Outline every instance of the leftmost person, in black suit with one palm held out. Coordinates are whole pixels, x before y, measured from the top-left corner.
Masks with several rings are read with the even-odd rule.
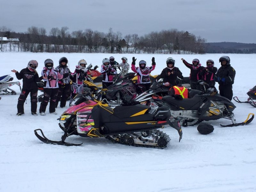
[[[24,114],[24,103],[30,93],[30,102],[31,102],[31,114],[33,116],[37,116],[37,84],[36,82],[40,81],[36,68],[38,67],[38,62],[36,60],[30,60],[28,62],[27,68],[24,68],[20,71],[12,70],[15,73],[17,79],[22,79],[23,85],[20,93],[20,97],[18,99],[17,116],[21,116]],[[42,78],[42,77],[41,77]]]

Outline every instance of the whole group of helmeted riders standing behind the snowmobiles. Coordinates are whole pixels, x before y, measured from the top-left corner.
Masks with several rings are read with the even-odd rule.
[[[114,76],[117,74],[117,68],[120,70],[118,77],[124,77],[130,68],[127,63],[128,59],[122,57],[122,63],[115,61],[115,58],[111,56],[109,59],[104,58],[101,65],[102,88],[107,88],[113,84]],[[150,73],[156,67],[155,58],[152,57],[151,66],[147,66],[145,60],[139,61],[139,66],[135,67],[136,63],[135,57],[132,57],[131,69],[137,74],[137,87],[138,93],[144,92],[149,89]],[[186,60],[181,58],[186,67],[190,69],[190,86],[192,89],[200,89],[197,82],[203,80],[209,86],[214,86],[215,82],[219,83],[220,95],[232,100],[232,84],[234,84],[234,78],[236,71],[230,66],[230,58],[228,56],[222,56],[219,59],[221,67],[217,69],[214,67],[214,61],[209,59],[206,61],[206,67],[203,67],[198,59],[192,60],[192,64],[188,63]],[[37,116],[37,82],[44,81],[44,97],[40,104],[39,113],[40,115],[45,115],[45,110],[50,101],[49,112],[50,114],[56,114],[55,108],[60,102],[60,107],[66,106],[68,97],[74,98],[74,96],[83,90],[83,82],[89,76],[87,76],[88,69],[86,69],[87,62],[82,59],[78,61],[75,72],[71,73],[68,66],[68,59],[62,57],[59,60],[59,66],[53,67],[53,60],[46,59],[44,61],[44,68],[39,77],[36,68],[38,67],[38,62],[36,60],[30,60],[28,62],[27,68],[22,69],[20,72],[15,69],[12,72],[15,73],[17,79],[22,79],[23,86],[18,99],[17,116],[24,114],[24,103],[28,94],[30,93],[31,101],[31,114]],[[177,77],[183,79],[182,73],[179,68],[174,67],[175,60],[169,57],[166,60],[167,67],[164,68],[157,79],[163,78],[163,86],[167,89],[172,87],[177,87]],[[89,70],[90,72],[90,70]],[[177,88],[179,89],[179,88]]]

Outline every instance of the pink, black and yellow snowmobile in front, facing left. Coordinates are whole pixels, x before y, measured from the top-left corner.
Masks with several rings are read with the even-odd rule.
[[[168,105],[159,101],[156,101],[155,105],[152,109],[136,103],[112,108],[100,100],[88,99],[79,105],[71,106],[58,119],[59,126],[64,131],[61,141],[49,140],[41,129],[34,132],[39,140],[48,144],[79,146],[82,143],[65,142],[68,136],[79,135],[105,137],[124,145],[165,148],[170,142],[170,137],[158,129],[169,124],[178,131],[180,140],[182,130],[179,122],[172,118]],[[37,131],[40,131],[42,136]]]

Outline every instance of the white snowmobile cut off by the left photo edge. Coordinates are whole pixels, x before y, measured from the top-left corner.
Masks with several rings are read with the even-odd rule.
[[[0,76],[0,93],[2,95],[17,94],[14,90],[10,89],[9,87],[11,87],[12,85],[19,85],[20,87],[20,82],[19,81],[11,82],[12,80],[13,80],[13,77],[11,77],[10,75]],[[20,92],[21,92],[21,87],[20,87]]]

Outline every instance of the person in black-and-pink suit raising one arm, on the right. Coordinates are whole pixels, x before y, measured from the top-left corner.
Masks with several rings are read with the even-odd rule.
[[[201,66],[201,64],[199,63],[198,59],[193,59],[192,64],[188,63],[183,58],[181,58],[181,60],[183,61],[185,66],[190,69],[189,79],[190,79],[190,87],[191,87],[191,89],[201,90],[200,86],[197,84],[197,81],[198,80],[202,80],[202,76],[200,75],[200,73],[202,72],[204,67]]]

